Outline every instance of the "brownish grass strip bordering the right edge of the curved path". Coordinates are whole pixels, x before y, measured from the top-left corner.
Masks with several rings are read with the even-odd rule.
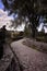
[[[42,51],[42,52],[47,54],[47,47],[46,48],[43,48],[43,47],[38,48],[36,45],[31,45],[31,43],[28,44],[28,42],[26,43],[26,40],[23,42],[23,45],[26,45],[30,48],[33,48],[33,49],[35,49],[37,51]]]

